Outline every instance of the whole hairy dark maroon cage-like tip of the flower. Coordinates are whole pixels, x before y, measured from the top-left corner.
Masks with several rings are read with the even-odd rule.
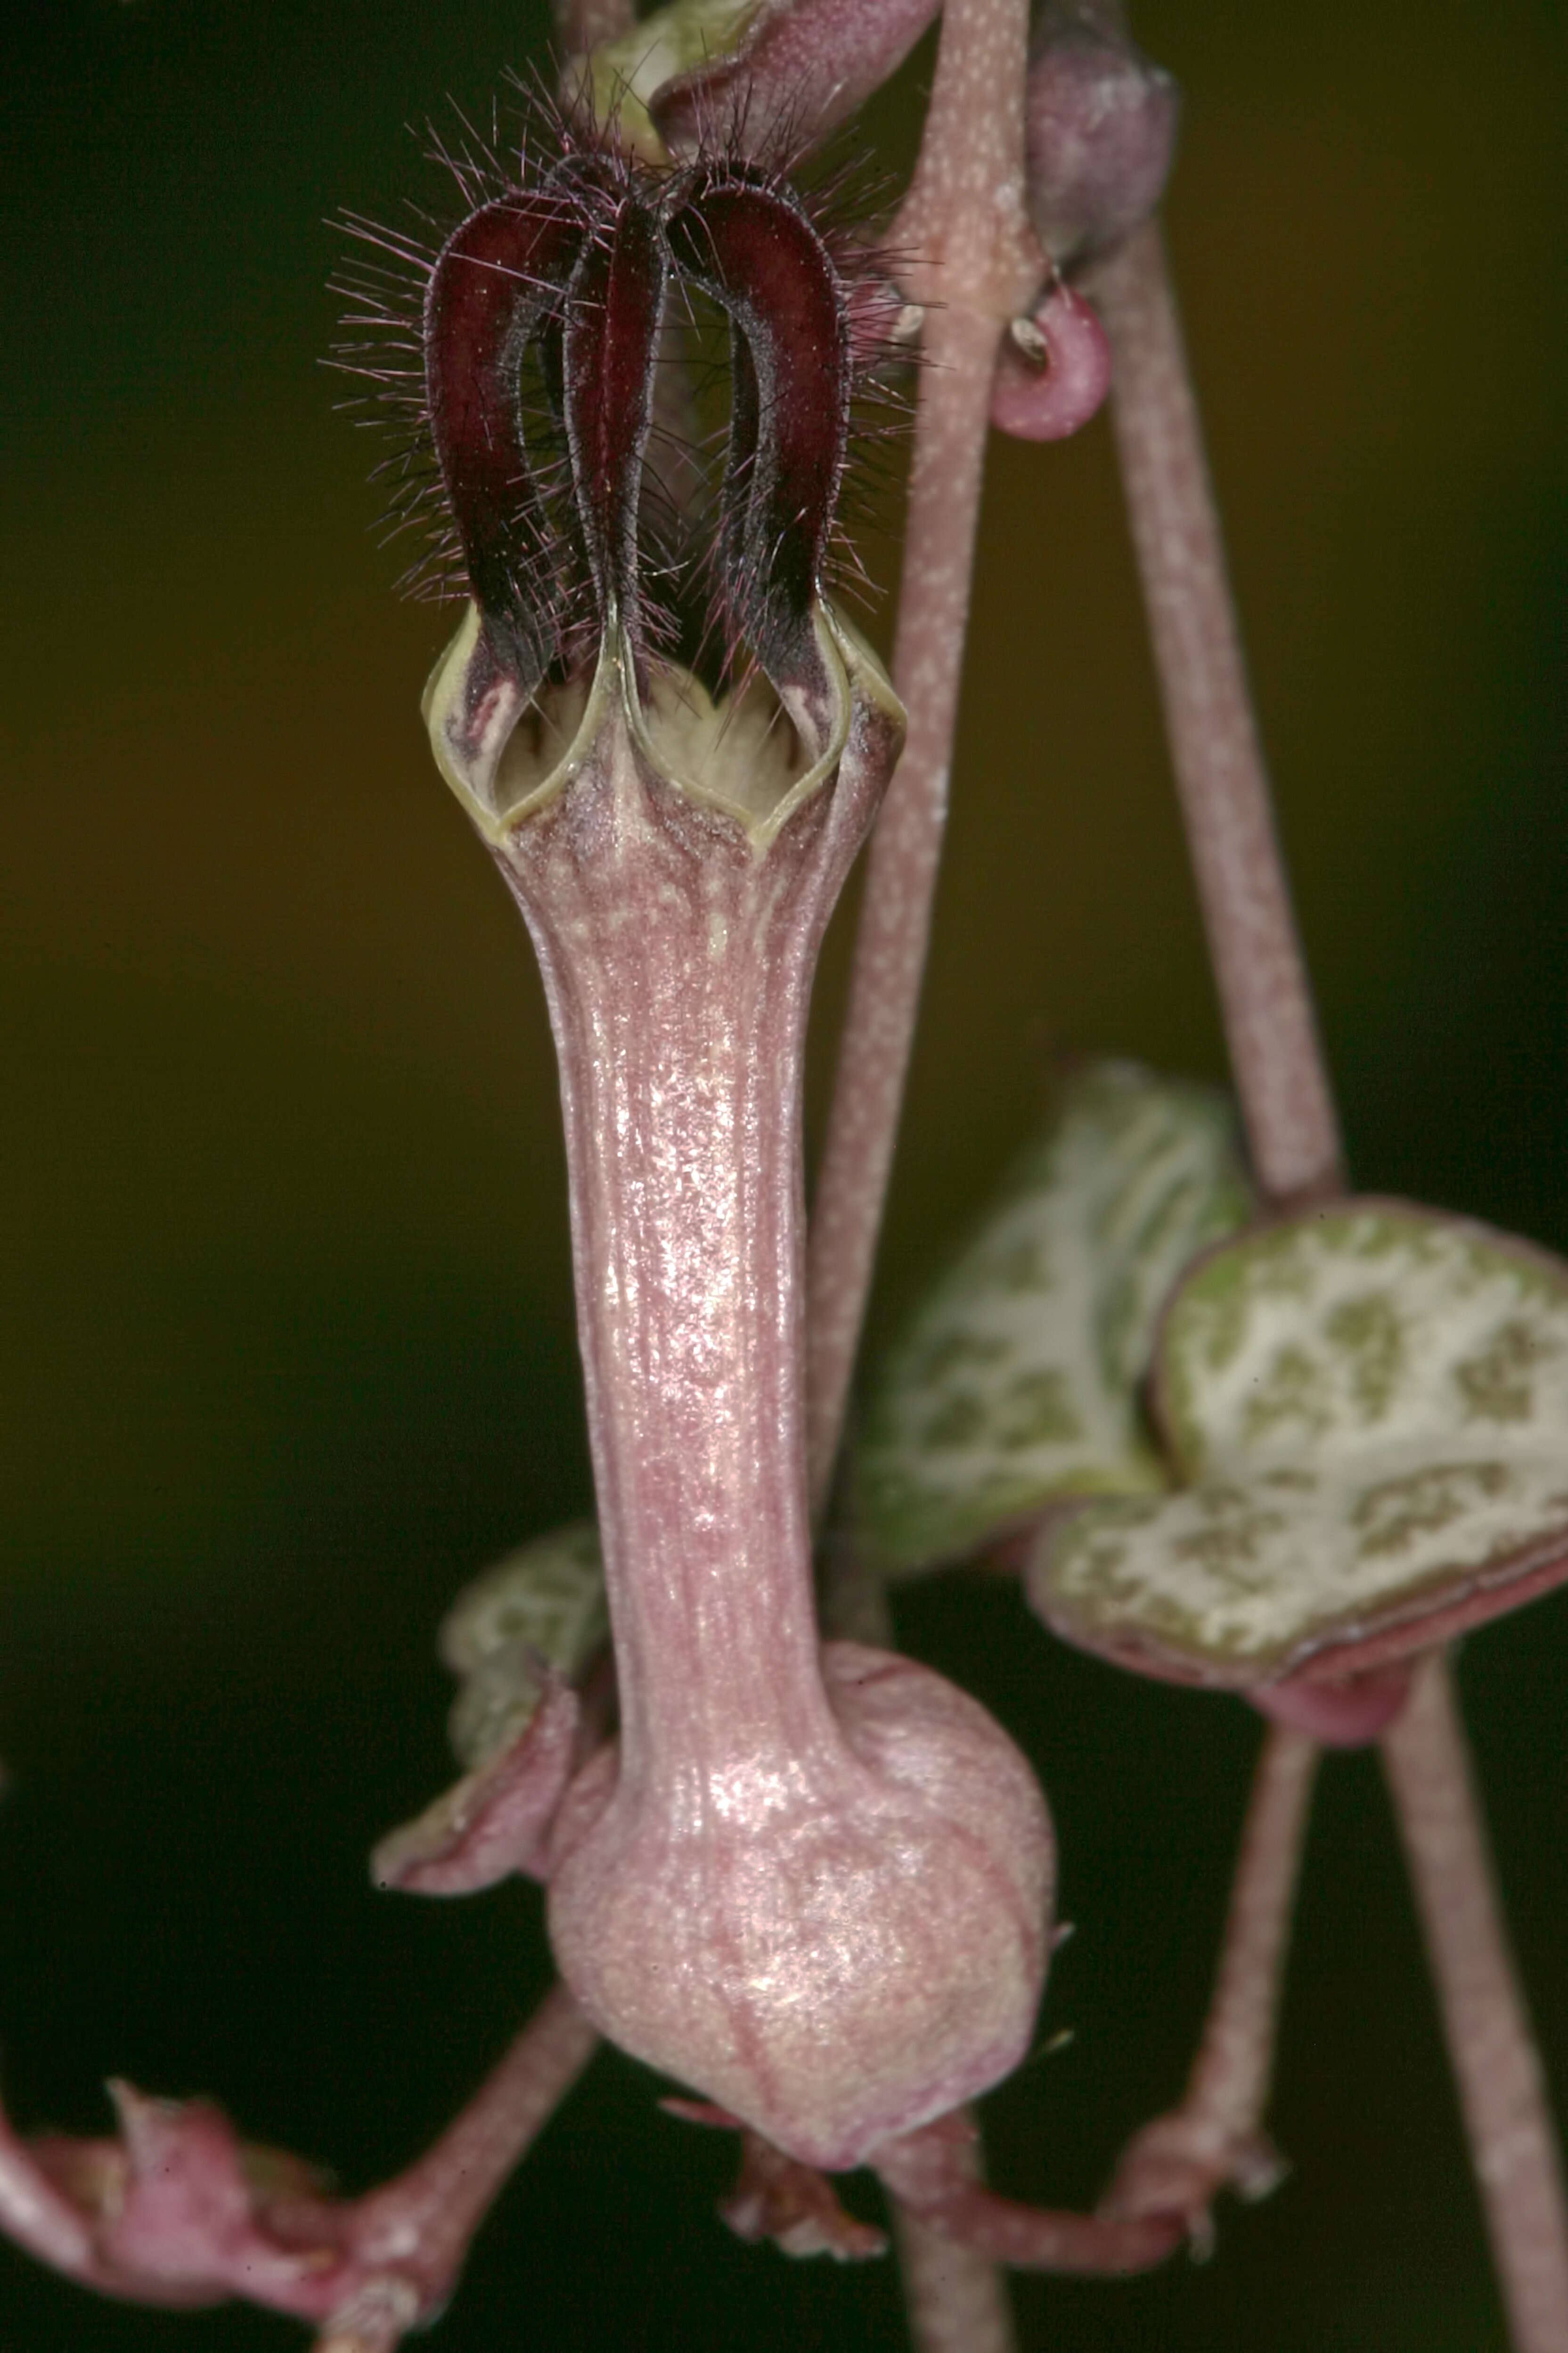
[[[780,172],[567,139],[447,238],[423,299],[473,602],[435,741],[482,824],[524,718],[550,767],[545,736],[571,744],[607,664],[654,725],[762,673],[825,744],[823,598],[851,414],[884,360],[839,259],[858,249]]]

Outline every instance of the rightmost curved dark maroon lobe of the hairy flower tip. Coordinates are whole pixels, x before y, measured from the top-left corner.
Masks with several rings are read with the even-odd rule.
[[[701,172],[670,219],[675,266],[731,320],[719,574],[726,619],[785,678],[811,642],[849,445],[849,304],[799,200]]]

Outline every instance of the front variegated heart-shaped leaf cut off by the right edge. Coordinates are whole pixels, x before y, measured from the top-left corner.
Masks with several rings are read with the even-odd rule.
[[[1568,1266],[1488,1226],[1352,1200],[1225,1242],[1154,1409],[1185,1492],[1086,1506],[1027,1574],[1128,1666],[1352,1675],[1568,1577]]]

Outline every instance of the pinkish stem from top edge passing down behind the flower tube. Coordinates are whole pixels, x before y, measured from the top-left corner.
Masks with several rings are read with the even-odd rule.
[[[1027,0],[950,0],[931,111],[893,242],[929,304],[893,642],[910,711],[872,835],[806,1261],[806,1449],[820,1515],[865,1320],[914,1042],[947,821],[997,344],[1044,261],[1023,209]]]

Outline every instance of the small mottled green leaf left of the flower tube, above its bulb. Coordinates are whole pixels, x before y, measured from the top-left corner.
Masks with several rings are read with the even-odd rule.
[[[571,1678],[609,1640],[592,1520],[571,1520],[484,1569],[451,1605],[440,1652],[463,1687],[449,1732],[463,1765],[515,1741],[541,1697],[541,1659]]]

